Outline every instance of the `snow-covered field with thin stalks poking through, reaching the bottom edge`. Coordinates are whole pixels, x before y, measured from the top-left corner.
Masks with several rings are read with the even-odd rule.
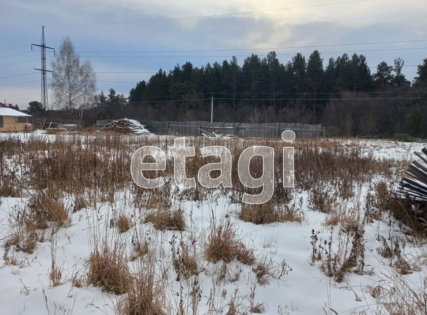
[[[57,137],[67,136],[0,134],[3,146],[8,145],[10,137],[24,143],[31,141],[31,137],[53,143]],[[164,141],[164,137],[154,135],[135,137],[142,142],[148,137],[150,141]],[[391,168],[397,165],[395,161],[411,161],[414,151],[426,146],[383,140],[338,142],[346,150],[357,146],[361,157],[389,162]],[[4,159],[9,168],[16,164],[13,157]],[[21,162],[26,164],[25,160]],[[298,160],[296,170],[297,163]],[[9,168],[1,168],[4,172],[1,176]],[[21,173],[25,172],[17,170],[19,175],[15,176]],[[377,185],[385,182],[394,187],[397,173],[394,178],[373,174],[364,183],[354,183],[353,193],[347,198],[331,192],[328,213],[320,212],[319,202],[313,202],[323,190],[310,191],[296,185],[289,207],[299,219],[268,224],[242,221],[240,203],[232,203],[230,196],[219,190],[203,194],[202,200],[178,198],[182,194],[177,192],[171,195],[171,208],[183,210],[186,221],[183,231],[156,229],[153,222],[146,220],[153,209],[150,211],[148,205],[135,206],[134,189],[119,189],[108,200],[96,197],[81,209],[75,209],[76,195],[67,192],[59,202],[69,211],[70,220],[57,229],[50,224],[31,253],[19,251],[16,242],[7,244],[14,233],[22,232],[18,218],[26,211],[30,194],[36,192],[31,183],[21,183],[26,189],[19,197],[0,197],[0,314],[116,314],[117,305],[128,293],[113,294],[86,281],[94,243],[102,239],[110,248],[116,245],[123,250],[132,275],[154,271],[162,294],[152,299],[162,300],[164,314],[390,314],[393,305],[387,303],[416,304],[417,298],[425,303],[424,239],[410,235],[409,228],[386,209],[379,212],[372,206],[376,215],[366,213],[369,203],[366,200],[376,196]],[[325,185],[328,187],[328,183]],[[336,191],[339,185],[334,184]],[[281,191],[276,189],[275,193]],[[88,190],[83,195],[91,198]],[[130,228],[123,233],[117,225],[121,215],[130,221]],[[253,251],[252,263],[244,264],[235,258],[228,263],[207,259],[206,246],[212,231],[227,224],[235,230],[234,241],[243,242]],[[148,253],[135,257],[136,242],[147,244]],[[384,253],[387,247],[389,254]],[[175,267],[177,257],[185,251],[191,252],[197,264],[197,272],[188,278]],[[328,266],[336,271],[350,260],[352,265],[342,272],[342,279],[328,274]],[[52,268],[60,271],[59,281],[52,280]],[[419,313],[413,314],[424,314],[421,312],[424,307],[414,306]]]

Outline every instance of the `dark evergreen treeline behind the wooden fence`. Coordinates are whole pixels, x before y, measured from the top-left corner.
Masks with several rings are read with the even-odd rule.
[[[275,52],[263,59],[252,54],[242,66],[235,57],[200,68],[187,62],[137,83],[129,98],[114,89],[101,92],[83,120],[209,121],[213,96],[214,121],[322,124],[339,135],[420,137],[427,135],[427,59],[412,83],[404,66],[397,58],[371,71],[357,54],[330,58],[325,66],[317,50],[287,64]]]

